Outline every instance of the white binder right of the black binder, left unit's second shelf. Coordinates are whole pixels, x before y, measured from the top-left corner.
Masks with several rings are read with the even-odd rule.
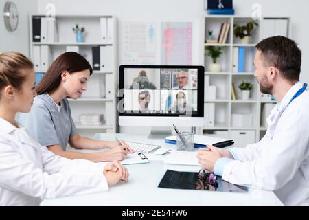
[[[113,46],[100,46],[101,72],[113,72]]]

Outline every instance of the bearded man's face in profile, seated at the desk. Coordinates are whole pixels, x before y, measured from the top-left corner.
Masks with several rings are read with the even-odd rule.
[[[254,66],[255,66],[254,76],[258,80],[258,83],[260,85],[260,91],[263,94],[272,94],[273,85],[271,84],[271,82],[269,82],[267,78],[267,72],[269,68],[266,65],[267,64],[264,63],[262,58],[262,52],[258,50],[255,53],[254,58]]]

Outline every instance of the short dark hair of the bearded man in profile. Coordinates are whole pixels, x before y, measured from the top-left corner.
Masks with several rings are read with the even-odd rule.
[[[295,41],[285,36],[271,36],[255,45],[262,52],[262,59],[268,66],[279,69],[287,80],[299,80],[301,71],[301,50]]]

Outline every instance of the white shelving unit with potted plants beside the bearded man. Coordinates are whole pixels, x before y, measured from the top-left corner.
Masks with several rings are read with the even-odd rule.
[[[251,32],[251,41],[249,44],[241,44],[239,39],[233,34],[233,25],[244,25],[249,21],[253,21],[251,17],[239,17],[233,15],[206,15],[204,17],[204,42],[203,47],[205,53],[203,56],[205,66],[205,76],[209,76],[209,85],[216,86],[216,98],[207,100],[205,98],[205,120],[211,109],[207,109],[207,103],[214,103],[214,122],[211,126],[205,126],[197,129],[200,134],[214,135],[219,137],[231,138],[236,141],[235,146],[244,147],[253,142],[258,142],[266,133],[266,126],[262,123],[262,109],[264,104],[273,103],[276,101],[261,100],[260,87],[254,77],[253,60],[255,56],[255,44],[261,39],[268,36],[283,35],[288,36],[289,19],[285,18],[262,18],[260,21],[255,21],[258,26],[255,26]],[[227,43],[205,43],[208,31],[213,30],[214,39],[218,39],[221,23],[229,23],[229,35]],[[284,29],[285,28],[285,29]],[[211,57],[206,54],[206,47],[221,46],[224,47],[217,63],[220,63],[221,72],[208,72],[208,66]],[[233,72],[233,47],[244,47],[245,50],[245,66],[244,72]],[[238,85],[245,80],[253,84],[251,96],[249,100],[241,99],[241,91]],[[234,84],[237,100],[231,98],[231,85]],[[205,88],[206,89],[206,88]],[[252,123],[250,126],[234,126],[232,124],[232,114],[252,114]],[[212,117],[209,117],[212,118]]]

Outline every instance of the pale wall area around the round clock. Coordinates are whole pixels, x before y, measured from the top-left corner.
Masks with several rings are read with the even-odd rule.
[[[5,2],[0,1],[0,52],[18,51],[25,56],[30,56],[29,50],[29,14],[38,10],[38,0],[10,0],[17,6],[19,12],[19,24],[14,32],[8,32],[3,21],[3,9]]]

